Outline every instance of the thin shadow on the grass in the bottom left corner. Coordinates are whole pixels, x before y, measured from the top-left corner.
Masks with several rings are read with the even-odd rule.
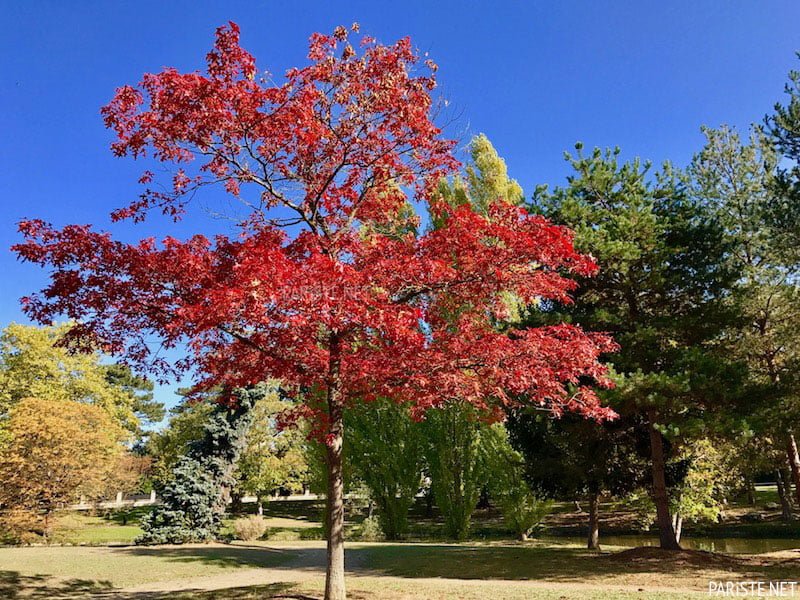
[[[272,583],[223,590],[186,589],[178,592],[125,592],[104,581],[83,579],[57,580],[43,575],[20,575],[14,571],[0,571],[0,598],[50,598],[53,600],[317,600],[293,592],[295,584]]]

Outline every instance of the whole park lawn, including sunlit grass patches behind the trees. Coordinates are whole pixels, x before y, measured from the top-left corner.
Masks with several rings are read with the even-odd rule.
[[[726,523],[707,526],[711,533],[745,539],[800,537],[796,523],[781,523],[774,511],[765,508],[774,491],[757,492],[756,507],[732,506]],[[272,502],[266,509],[266,541],[162,547],[131,545],[140,532],[138,520],[147,509],[102,516],[65,513],[57,544],[0,548],[0,598],[321,597],[324,542],[319,505]],[[764,513],[764,522],[747,523],[741,518],[754,510]],[[794,581],[800,577],[800,550],[675,555],[653,548],[604,546],[602,553],[590,552],[582,544],[558,537],[585,527],[585,513],[576,512],[571,503],[558,504],[548,518],[546,532],[556,537],[524,544],[509,539],[502,520],[491,509],[477,511],[472,541],[461,544],[442,538],[438,515],[426,515],[421,503],[413,508],[410,539],[404,543],[359,541],[363,516],[357,511],[350,516],[348,586],[350,597],[356,600],[677,600],[708,597],[712,580]],[[226,532],[231,530],[231,520],[226,521]],[[630,511],[624,506],[604,506],[604,532],[626,534],[630,523]],[[694,530],[699,531],[703,530]]]

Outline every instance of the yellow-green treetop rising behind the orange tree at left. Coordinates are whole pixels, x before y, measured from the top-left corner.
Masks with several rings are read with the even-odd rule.
[[[12,323],[2,331],[0,415],[23,398],[74,401],[99,406],[128,431],[138,431],[140,416],[152,416],[157,406],[152,385],[126,377],[125,367],[103,364],[99,352],[73,353],[59,345],[70,327]]]

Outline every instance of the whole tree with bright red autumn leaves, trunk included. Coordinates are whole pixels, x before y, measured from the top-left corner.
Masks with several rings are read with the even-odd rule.
[[[238,235],[122,243],[90,226],[20,224],[16,252],[51,268],[23,300],[41,322],[66,315],[73,343],[100,345],[197,389],[268,377],[296,394],[296,414],[327,444],[326,598],[344,598],[342,416],[391,397],[421,415],[453,399],[500,414],[520,403],[605,418],[600,334],[571,325],[496,327],[503,298],[569,302],[570,274],[596,266],[568,230],[498,198],[488,215],[436,199],[457,168],[432,121],[436,66],[410,41],[381,45],[351,30],[315,34],[309,64],[281,84],[259,74],[239,28],[217,31],[206,74],[165,69],[117,90],[103,108],[119,156],[174,165],[113,220],[153,210],[179,219],[222,185],[244,207]],[[141,182],[151,185],[153,174]],[[164,190],[168,191],[164,191]],[[408,199],[442,225],[416,233]],[[168,363],[153,351],[184,344]]]

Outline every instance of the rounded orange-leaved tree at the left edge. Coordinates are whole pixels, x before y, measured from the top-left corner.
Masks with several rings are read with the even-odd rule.
[[[8,411],[0,447],[0,525],[17,539],[48,537],[53,512],[102,497],[126,457],[124,430],[103,408],[23,398]]]

